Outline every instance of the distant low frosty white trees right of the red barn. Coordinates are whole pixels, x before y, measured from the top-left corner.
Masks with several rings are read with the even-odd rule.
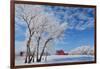
[[[70,51],[69,54],[70,55],[94,55],[94,48],[91,48],[90,46],[81,46]]]

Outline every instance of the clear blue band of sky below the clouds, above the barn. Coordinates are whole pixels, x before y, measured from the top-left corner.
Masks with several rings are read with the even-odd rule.
[[[70,33],[65,33],[67,36],[64,37],[65,43],[57,43],[56,49],[63,49],[70,51],[79,46],[94,46],[94,30],[88,29],[83,31],[68,30]]]

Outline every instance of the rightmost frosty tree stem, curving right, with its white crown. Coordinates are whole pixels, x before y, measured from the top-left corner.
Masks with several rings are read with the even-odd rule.
[[[67,28],[66,27],[66,23],[53,23],[53,24],[49,24],[48,25],[48,28],[46,29],[46,33],[47,35],[45,35],[45,42],[44,42],[44,45],[43,45],[43,50],[40,54],[40,58],[39,58],[39,61],[41,61],[41,58],[43,56],[43,53],[45,51],[45,48],[47,47],[47,44],[51,41],[51,40],[55,40],[59,37],[62,36],[62,34],[64,33],[65,29]]]

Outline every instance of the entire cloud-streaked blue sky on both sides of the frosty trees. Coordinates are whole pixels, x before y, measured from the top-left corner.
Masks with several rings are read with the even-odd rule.
[[[42,7],[45,7],[44,12],[53,13],[60,23],[68,24],[68,29],[64,32],[64,39],[55,44],[55,49],[69,51],[79,46],[94,46],[94,8],[47,5]],[[22,29],[15,31],[15,41],[24,41],[26,27],[16,24],[15,26]]]

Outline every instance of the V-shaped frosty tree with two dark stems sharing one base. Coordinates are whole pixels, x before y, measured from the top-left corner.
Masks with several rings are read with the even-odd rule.
[[[34,25],[31,26],[35,26],[33,39],[37,43],[37,62],[40,62],[44,51],[48,46],[47,44],[50,41],[61,37],[67,28],[67,24],[57,22],[57,20],[48,13],[41,13],[34,21]],[[41,52],[39,50],[40,46],[42,46]]]

